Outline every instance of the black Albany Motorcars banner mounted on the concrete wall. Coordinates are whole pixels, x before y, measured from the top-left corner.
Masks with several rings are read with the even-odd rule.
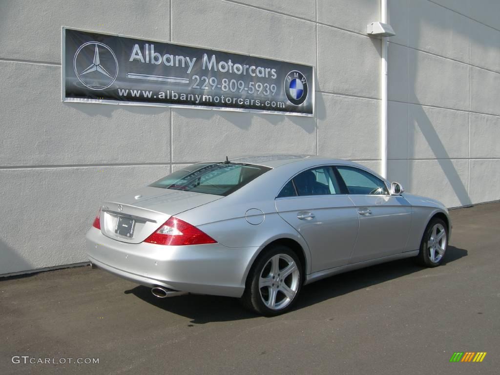
[[[314,70],[62,27],[62,100],[312,116]]]

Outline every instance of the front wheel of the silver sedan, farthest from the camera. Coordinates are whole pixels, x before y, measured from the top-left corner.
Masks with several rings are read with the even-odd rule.
[[[442,263],[448,246],[448,227],[440,218],[433,218],[427,224],[420,251],[417,255],[418,263],[425,267],[437,267]]]

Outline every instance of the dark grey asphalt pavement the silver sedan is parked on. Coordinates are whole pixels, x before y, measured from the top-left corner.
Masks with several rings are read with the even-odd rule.
[[[443,265],[336,275],[272,318],[89,266],[0,278],[0,374],[498,374],[500,203],[450,213]]]

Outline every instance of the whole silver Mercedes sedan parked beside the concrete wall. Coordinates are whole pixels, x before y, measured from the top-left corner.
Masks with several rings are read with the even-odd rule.
[[[103,202],[86,234],[96,266],[157,297],[239,297],[264,315],[300,287],[414,256],[439,265],[451,223],[440,202],[357,163],[269,155],[184,167]]]

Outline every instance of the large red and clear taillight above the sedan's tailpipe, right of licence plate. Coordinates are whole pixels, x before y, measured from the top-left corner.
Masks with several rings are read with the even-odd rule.
[[[144,242],[178,246],[216,243],[217,241],[194,225],[176,217],[170,217],[158,230],[144,239]]]

